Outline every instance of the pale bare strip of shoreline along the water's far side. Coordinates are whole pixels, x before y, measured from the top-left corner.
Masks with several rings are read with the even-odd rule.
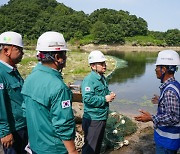
[[[68,45],[70,49],[77,49],[75,46]],[[159,46],[130,46],[130,45],[94,45],[88,44],[84,46],[80,46],[79,49],[92,51],[92,50],[101,50],[103,52],[107,51],[120,51],[120,52],[157,52],[166,49],[172,49],[175,51],[180,51],[180,47],[159,47]]]

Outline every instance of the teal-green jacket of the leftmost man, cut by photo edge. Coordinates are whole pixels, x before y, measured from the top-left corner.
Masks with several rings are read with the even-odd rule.
[[[23,79],[17,70],[0,62],[0,138],[26,127],[21,108]]]

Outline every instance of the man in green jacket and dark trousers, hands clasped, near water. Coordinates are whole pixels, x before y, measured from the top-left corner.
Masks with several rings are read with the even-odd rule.
[[[83,131],[85,144],[83,154],[99,154],[108,118],[109,102],[115,98],[110,92],[104,77],[106,71],[105,57],[101,51],[95,50],[89,54],[88,62],[91,73],[82,83],[84,103]]]

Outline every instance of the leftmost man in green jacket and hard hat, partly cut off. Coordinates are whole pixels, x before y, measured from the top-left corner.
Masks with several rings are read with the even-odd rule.
[[[23,79],[16,64],[23,56],[20,34],[0,35],[0,138],[5,153],[24,154],[28,137],[26,119],[21,108]]]

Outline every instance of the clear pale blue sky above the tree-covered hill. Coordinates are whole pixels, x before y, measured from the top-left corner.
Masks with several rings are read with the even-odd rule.
[[[9,0],[0,0],[0,5]],[[148,29],[165,32],[180,30],[180,0],[57,0],[76,11],[90,14],[100,8],[128,11],[148,23]]]

